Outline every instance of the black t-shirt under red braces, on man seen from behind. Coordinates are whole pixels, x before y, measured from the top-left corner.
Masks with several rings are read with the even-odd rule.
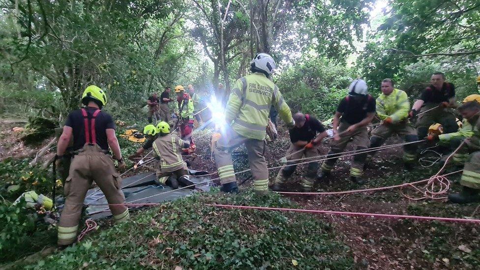
[[[89,116],[89,118],[91,118],[91,116],[97,109],[92,107],[87,107],[86,110],[87,110],[87,115]],[[85,124],[84,124],[82,111],[75,110],[71,112],[68,115],[65,125],[73,129],[73,146],[68,149],[69,150],[81,149],[86,143]],[[100,112],[95,118],[95,137],[96,137],[97,145],[103,150],[108,150],[107,132],[106,132],[106,129],[108,128],[115,129],[115,123],[109,114],[105,112]]]

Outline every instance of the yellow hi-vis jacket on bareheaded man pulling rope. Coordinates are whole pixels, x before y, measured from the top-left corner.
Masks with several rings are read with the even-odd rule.
[[[381,120],[390,117],[392,121],[404,120],[408,117],[410,102],[405,91],[393,89],[389,95],[380,94],[377,98],[377,115]]]

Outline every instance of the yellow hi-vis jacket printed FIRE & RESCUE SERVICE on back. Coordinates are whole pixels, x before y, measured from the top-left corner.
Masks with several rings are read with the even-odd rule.
[[[264,140],[271,105],[287,125],[293,126],[292,112],[275,84],[264,74],[253,73],[235,83],[225,108],[225,120],[241,136]]]

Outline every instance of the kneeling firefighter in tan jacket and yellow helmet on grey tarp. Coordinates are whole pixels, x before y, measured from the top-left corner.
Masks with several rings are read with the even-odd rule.
[[[170,134],[170,125],[165,121],[157,124],[156,131],[158,137],[153,142],[153,149],[160,159],[159,169],[156,172],[158,181],[173,189],[179,188],[179,185],[192,185],[188,169],[180,153],[180,150],[188,148],[190,143],[181,140],[176,133]]]

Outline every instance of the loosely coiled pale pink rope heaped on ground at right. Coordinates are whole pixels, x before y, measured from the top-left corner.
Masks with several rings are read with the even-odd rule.
[[[462,146],[464,142],[462,142],[457,149],[455,149],[445,160],[445,163],[443,164],[442,168],[430,179],[428,179],[428,182],[425,186],[419,188],[415,186],[414,183],[410,183],[408,186],[412,187],[415,189],[417,192],[419,192],[421,195],[420,197],[412,197],[403,192],[403,189],[400,189],[400,192],[402,192],[403,196],[410,200],[414,201],[419,201],[423,199],[432,199],[432,200],[442,200],[442,199],[447,199],[447,196],[444,196],[447,191],[450,189],[450,180],[448,180],[445,176],[441,176],[440,174],[442,171],[445,169],[447,166],[447,163],[449,162],[450,158],[453,156],[453,154],[456,153]]]

